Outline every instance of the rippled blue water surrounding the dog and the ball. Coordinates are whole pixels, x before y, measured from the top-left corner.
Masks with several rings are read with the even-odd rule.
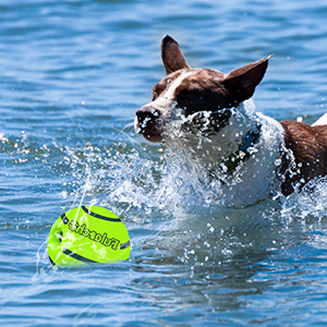
[[[258,110],[313,123],[326,13],[323,0],[2,0],[1,326],[325,325],[326,181],[219,208],[129,124],[164,76],[165,34],[192,66],[222,72],[275,53]],[[129,262],[51,268],[50,228],[81,203],[124,221]]]

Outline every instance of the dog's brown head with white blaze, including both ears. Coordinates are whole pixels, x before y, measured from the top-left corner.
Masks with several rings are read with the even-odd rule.
[[[161,142],[165,125],[177,109],[187,117],[198,111],[218,112],[217,128],[228,123],[230,111],[252,97],[262,81],[268,56],[229,74],[208,69],[191,69],[178,43],[166,35],[161,57],[167,76],[153,87],[153,100],[136,111],[135,130],[150,142]]]

